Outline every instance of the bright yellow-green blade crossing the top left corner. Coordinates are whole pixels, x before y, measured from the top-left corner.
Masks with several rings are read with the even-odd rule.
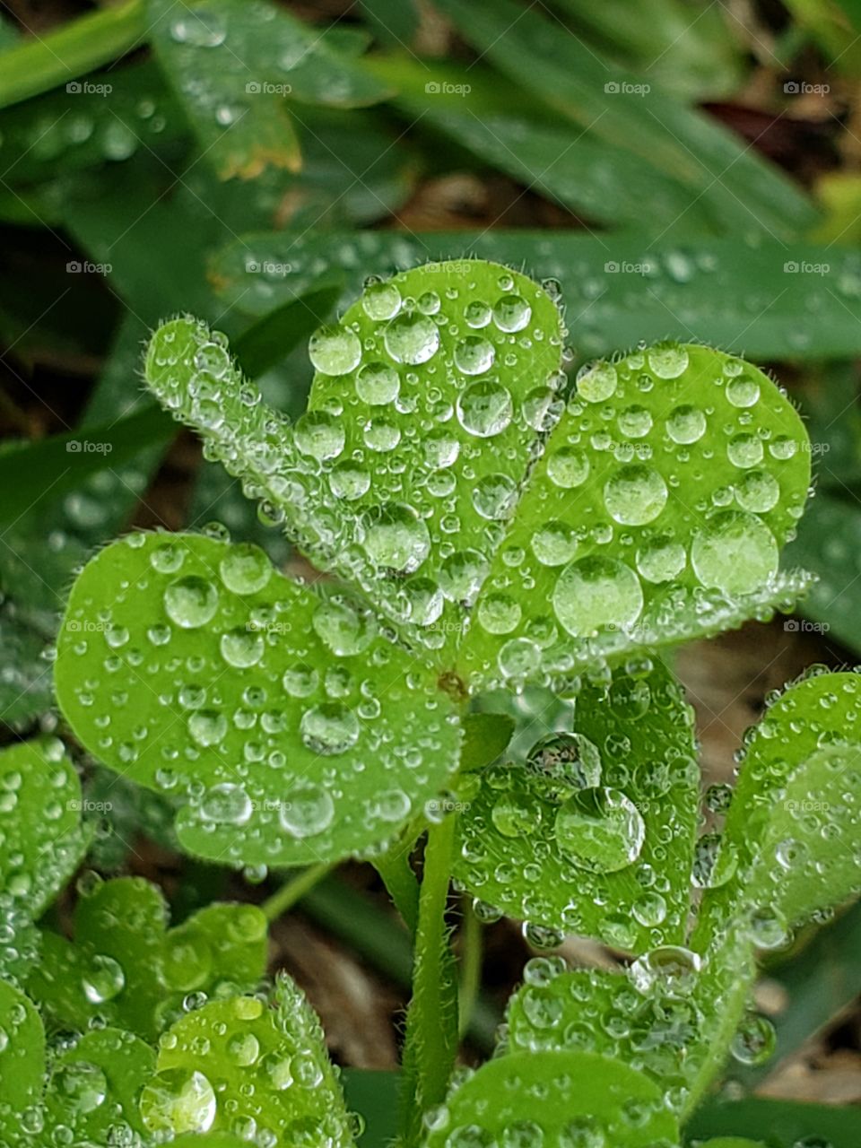
[[[147,34],[144,0],[102,8],[2,54],[0,108],[49,92],[138,47]]]

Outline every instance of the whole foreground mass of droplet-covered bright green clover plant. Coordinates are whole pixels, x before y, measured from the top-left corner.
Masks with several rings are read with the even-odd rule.
[[[808,584],[779,566],[801,420],[703,346],[569,385],[559,294],[473,261],[371,279],[311,338],[295,424],[220,334],[164,323],[147,386],[308,573],[215,528],[132,533],[78,573],[60,631],[68,750],[161,794],[188,854],[379,870],[414,952],[405,1148],[674,1148],[728,1057],[770,1052],[758,954],[861,890],[861,677],[773,697],[704,812],[672,669]],[[556,715],[537,739],[510,716],[525,690]],[[3,1142],[352,1145],[315,1014],[264,979],[267,915],[168,928],[148,882],[91,875],[67,938],[39,923],[88,846],[63,743],[5,750],[0,785]],[[452,882],[548,951],[476,1070],[455,1063]],[[572,933],[615,959],[568,967],[550,951]]]

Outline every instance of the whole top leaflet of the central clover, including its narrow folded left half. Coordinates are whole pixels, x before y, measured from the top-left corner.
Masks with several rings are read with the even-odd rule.
[[[265,491],[316,564],[441,651],[459,641],[559,405],[561,341],[536,284],[460,261],[370,285],[311,339],[318,372],[294,434],[242,397],[223,347],[191,320],[156,332],[147,381],[231,473]],[[208,356],[217,381],[201,379]]]

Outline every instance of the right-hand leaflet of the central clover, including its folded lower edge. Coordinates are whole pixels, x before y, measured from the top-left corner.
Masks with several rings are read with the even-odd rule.
[[[584,367],[529,475],[458,654],[487,688],[770,616],[804,509],[804,425],[761,371],[658,343]]]

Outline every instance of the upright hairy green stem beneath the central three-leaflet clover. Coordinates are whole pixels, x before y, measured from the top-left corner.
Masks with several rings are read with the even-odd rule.
[[[404,1045],[404,1141],[418,1143],[421,1116],[445,1099],[459,1044],[455,959],[445,908],[457,815],[430,825],[419,893],[412,1000]]]

